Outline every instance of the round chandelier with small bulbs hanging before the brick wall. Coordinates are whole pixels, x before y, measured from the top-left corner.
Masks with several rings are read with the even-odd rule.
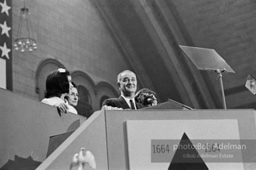
[[[25,0],[23,2],[24,7],[21,8],[21,11],[19,13],[19,27],[17,32],[17,39],[15,39],[13,46],[15,50],[21,50],[21,52],[25,52],[26,50],[32,52],[34,49],[37,49],[37,42],[34,39],[33,31],[31,29],[29,9],[25,5]],[[21,34],[23,25],[25,31],[27,32],[27,35],[25,35],[25,37],[23,37],[23,35]]]

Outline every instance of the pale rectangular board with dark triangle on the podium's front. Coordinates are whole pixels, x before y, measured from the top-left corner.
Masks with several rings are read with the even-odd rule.
[[[230,133],[231,131],[233,133]],[[208,141],[215,141],[213,139],[239,140],[237,120],[128,120],[129,169],[167,169],[176,151],[174,147],[179,145],[183,133],[186,133],[192,143],[196,140],[197,142],[193,144],[198,145],[198,148]],[[151,144],[153,139],[157,142]],[[163,143],[163,141],[170,142]],[[207,156],[205,149],[197,149],[197,151],[196,156]],[[211,154],[219,157],[219,153],[221,152],[215,151]],[[221,161],[218,157],[213,161]],[[243,169],[241,151],[237,151],[236,159],[239,163],[206,163],[206,165],[209,169]]]

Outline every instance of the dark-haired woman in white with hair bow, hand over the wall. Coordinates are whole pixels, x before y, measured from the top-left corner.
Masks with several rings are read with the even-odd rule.
[[[59,114],[72,112],[77,114],[77,110],[70,106],[65,96],[69,95],[70,88],[73,87],[71,84],[71,76],[68,70],[59,68],[53,70],[46,79],[45,82],[45,98],[42,100],[43,103],[57,107]]]

